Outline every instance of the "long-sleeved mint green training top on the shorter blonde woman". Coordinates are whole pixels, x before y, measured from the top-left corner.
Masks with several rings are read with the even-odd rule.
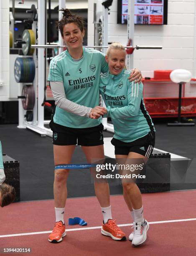
[[[123,69],[118,75],[101,74],[99,90],[107,106],[107,114],[114,125],[114,138],[131,142],[155,131],[145,108],[143,84],[130,82],[130,71]]]

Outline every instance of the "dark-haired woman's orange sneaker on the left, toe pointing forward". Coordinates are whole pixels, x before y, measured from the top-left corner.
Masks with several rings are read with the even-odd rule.
[[[59,243],[63,240],[62,237],[66,236],[65,224],[60,220],[56,222],[52,233],[48,236],[48,241],[51,243]]]

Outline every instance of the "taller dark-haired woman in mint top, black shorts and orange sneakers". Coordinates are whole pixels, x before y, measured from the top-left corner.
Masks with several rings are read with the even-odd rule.
[[[50,122],[53,131],[54,164],[69,164],[76,144],[80,145],[88,163],[104,159],[102,119],[89,118],[92,111],[104,115],[107,110],[99,105],[99,78],[108,71],[105,56],[100,51],[84,48],[84,25],[81,17],[62,9],[63,18],[57,27],[67,50],[55,56],[50,63],[50,81],[56,108]],[[141,81],[139,70],[129,77]],[[54,177],[54,202],[56,223],[48,241],[57,243],[66,236],[64,224],[67,198],[66,181],[69,170],[58,169]],[[94,182],[94,189],[103,214],[102,229],[114,240],[125,240],[123,233],[112,219],[108,183]]]

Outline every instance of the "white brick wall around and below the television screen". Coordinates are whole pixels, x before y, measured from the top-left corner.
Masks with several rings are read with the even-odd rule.
[[[168,0],[168,25],[135,26],[134,45],[163,46],[161,50],[134,51],[134,67],[139,68],[144,77],[153,77],[155,69],[178,68],[188,69],[196,76],[195,2],[195,0]],[[94,0],[88,1],[89,45],[94,44],[93,3]],[[117,24],[117,0],[113,0],[110,9],[108,41],[120,41],[126,45],[127,26]]]

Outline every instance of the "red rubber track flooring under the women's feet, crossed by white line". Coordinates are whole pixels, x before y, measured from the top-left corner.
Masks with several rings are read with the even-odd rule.
[[[196,191],[143,194],[144,215],[148,222],[196,218]],[[118,224],[130,223],[122,196],[112,196],[112,217]],[[65,221],[80,217],[88,227],[102,225],[102,214],[95,197],[68,199]],[[134,248],[130,241],[114,241],[102,236],[100,229],[68,231],[61,243],[49,243],[48,234],[2,237],[9,234],[43,232],[53,229],[53,201],[19,202],[0,209],[0,248],[31,248],[30,255],[128,256],[196,255],[196,220],[150,224],[147,241]],[[66,229],[81,228],[79,225]],[[130,234],[130,226],[122,226]],[[5,255],[5,253],[0,253]],[[27,253],[9,253],[27,255]]]

